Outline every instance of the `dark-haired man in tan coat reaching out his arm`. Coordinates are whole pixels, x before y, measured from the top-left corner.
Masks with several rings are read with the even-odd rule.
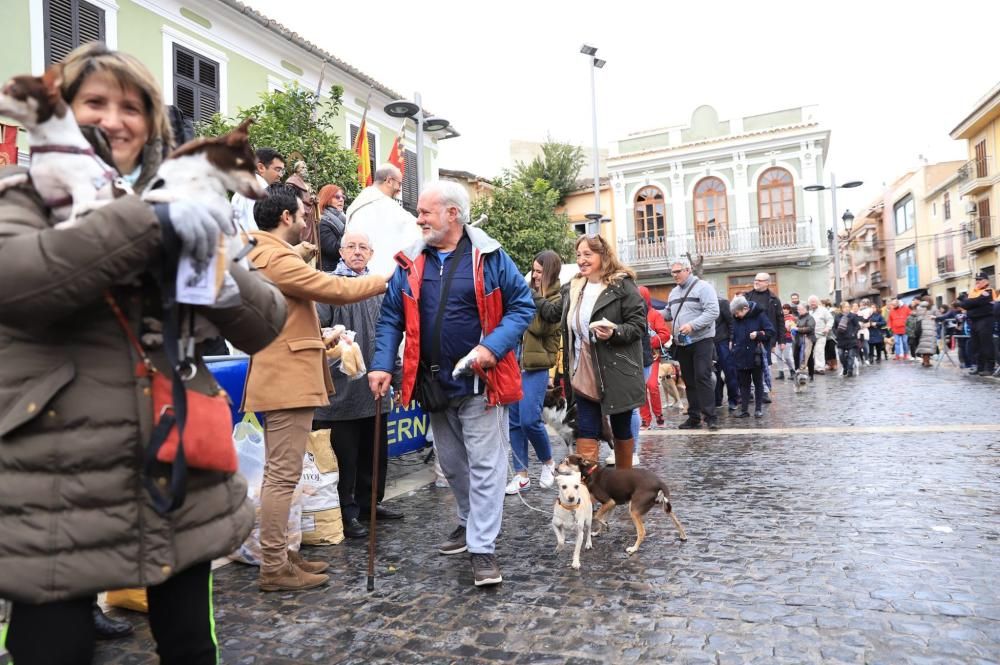
[[[325,584],[324,562],[310,562],[288,550],[292,494],[302,475],[313,411],[330,403],[333,381],[313,301],[358,302],[385,292],[386,277],[348,279],[310,268],[296,246],[305,211],[295,189],[272,185],[254,208],[260,231],[250,261],[284,294],[288,318],[281,335],[254,355],[247,370],[244,411],[264,411],[266,463],[260,505],[260,589],[297,591]]]

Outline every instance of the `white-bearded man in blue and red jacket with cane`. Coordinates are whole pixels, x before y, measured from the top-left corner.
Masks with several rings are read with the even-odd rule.
[[[405,332],[403,403],[432,390],[446,401],[430,420],[459,523],[438,551],[468,551],[475,585],[499,584],[494,550],[507,480],[507,405],[522,397],[514,349],[535,306],[500,244],[468,226],[469,196],[460,185],[431,183],[417,213],[423,240],[396,255],[399,267],[382,301],[368,382],[376,396],[388,393]],[[474,371],[453,376],[466,357]]]

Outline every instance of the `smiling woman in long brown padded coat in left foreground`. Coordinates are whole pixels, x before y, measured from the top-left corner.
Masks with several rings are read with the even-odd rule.
[[[171,141],[156,79],[98,42],[56,76],[94,151],[142,191]],[[17,663],[89,663],[95,595],[145,586],[160,662],[215,663],[211,561],[243,542],[254,509],[241,476],[193,467],[179,510],[154,504],[144,479],[166,487],[172,466],[143,471],[158,417],[146,368],[174,376],[158,334],[168,230],[181,253],[211,252],[232,209],[222,194],[155,208],[127,195],[72,227],[52,228],[50,215],[30,181],[0,195],[0,597],[13,601],[0,650]],[[239,264],[228,271],[239,302],[196,311],[255,353],[280,333],[284,299]],[[216,395],[201,352],[190,360],[185,392]],[[201,403],[189,402],[189,425]]]

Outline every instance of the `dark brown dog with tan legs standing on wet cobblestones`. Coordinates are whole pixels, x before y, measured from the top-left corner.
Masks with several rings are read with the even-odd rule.
[[[681,540],[687,540],[684,527],[674,514],[670,505],[670,490],[667,484],[660,480],[655,473],[646,469],[604,469],[594,460],[580,455],[570,455],[559,465],[560,473],[569,471],[580,471],[584,484],[590,490],[590,495],[595,501],[601,503],[601,508],[594,515],[594,521],[598,524],[598,530],[593,535],[600,534],[600,528],[607,528],[608,523],[604,517],[610,513],[619,503],[629,504],[629,515],[632,523],[635,524],[636,539],[635,544],[626,547],[625,552],[635,554],[639,550],[639,545],[646,539],[646,526],[643,524],[643,516],[650,511],[653,504],[662,503],[664,510],[674,521],[674,526],[680,534]]]

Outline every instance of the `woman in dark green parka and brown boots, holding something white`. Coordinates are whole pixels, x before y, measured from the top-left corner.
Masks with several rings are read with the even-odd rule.
[[[565,350],[577,403],[577,454],[597,460],[604,416],[611,421],[615,463],[632,468],[632,410],[646,399],[642,334],[646,313],[635,274],[600,235],[576,241],[579,274],[563,307]]]

